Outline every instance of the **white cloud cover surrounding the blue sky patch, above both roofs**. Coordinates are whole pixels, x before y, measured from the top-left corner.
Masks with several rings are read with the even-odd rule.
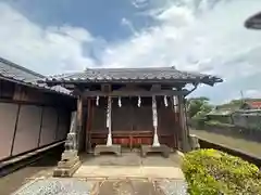
[[[139,31],[133,29],[133,37],[110,44],[80,27],[42,28],[0,3],[0,54],[39,73],[57,74],[97,66],[83,43],[91,47],[102,42],[97,55],[99,65],[105,67],[175,65],[178,69],[222,76],[226,82],[194,93],[219,101],[235,96],[238,84],[246,84],[252,75],[261,73],[261,32],[244,27],[245,20],[259,11],[260,0],[133,3],[142,9],[153,4],[144,14],[149,14],[157,25]],[[121,23],[133,27],[126,18]],[[261,91],[252,86],[247,89]]]

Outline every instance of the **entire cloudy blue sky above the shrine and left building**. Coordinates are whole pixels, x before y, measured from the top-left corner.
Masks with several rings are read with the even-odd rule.
[[[0,0],[0,55],[44,75],[172,66],[219,75],[194,95],[260,98],[260,0]]]

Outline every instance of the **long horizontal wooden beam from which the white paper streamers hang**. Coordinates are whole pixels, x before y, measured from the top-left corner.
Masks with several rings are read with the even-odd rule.
[[[188,90],[159,90],[159,91],[112,91],[112,92],[102,92],[102,91],[84,91],[82,95],[84,98],[88,96],[173,96],[173,95],[187,95]]]

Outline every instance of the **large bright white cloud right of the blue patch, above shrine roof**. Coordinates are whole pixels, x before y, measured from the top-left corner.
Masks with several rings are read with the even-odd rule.
[[[261,6],[260,1],[222,1],[214,8],[208,4],[213,4],[211,1],[201,1],[197,8],[190,2],[170,5],[169,1],[167,9],[153,15],[160,25],[111,46],[113,52],[105,52],[103,62],[110,66],[175,64],[228,80],[261,72],[261,32],[244,27],[245,20]]]

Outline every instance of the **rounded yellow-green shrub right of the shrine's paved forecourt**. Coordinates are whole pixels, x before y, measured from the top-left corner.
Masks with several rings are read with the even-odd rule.
[[[191,195],[261,194],[257,166],[215,150],[187,153],[182,166]]]

